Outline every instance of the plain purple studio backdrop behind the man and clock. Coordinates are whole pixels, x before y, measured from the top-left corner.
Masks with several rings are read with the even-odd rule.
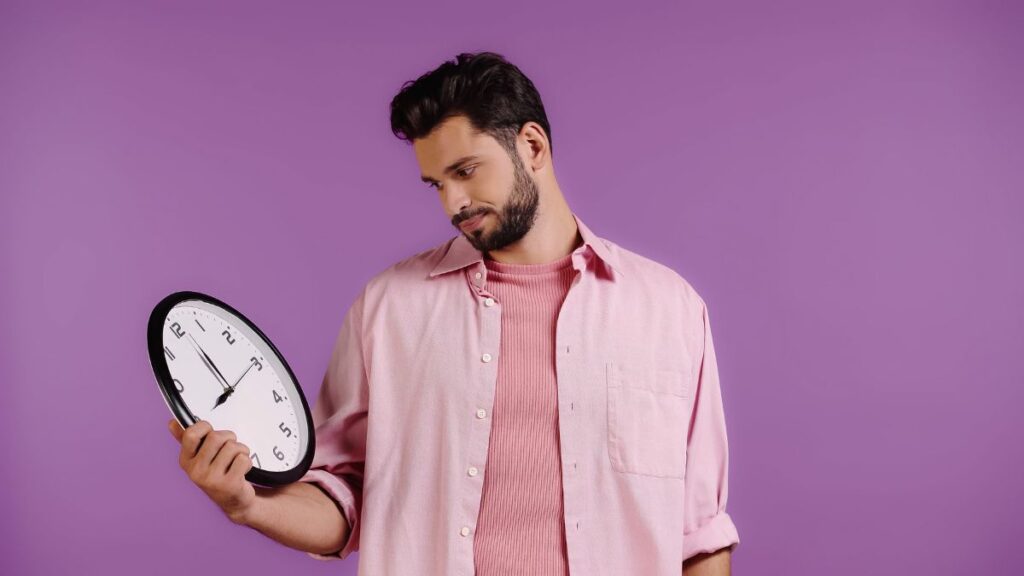
[[[83,4],[0,6],[0,572],[355,574],[188,482],[145,321],[221,297],[314,398],[362,284],[456,234],[390,98],[480,49],[709,303],[736,574],[1024,572],[1019,3]]]

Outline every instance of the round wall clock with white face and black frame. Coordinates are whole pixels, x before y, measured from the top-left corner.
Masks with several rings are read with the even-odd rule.
[[[215,298],[179,292],[154,310],[150,331],[154,370],[182,426],[202,419],[234,433],[249,448],[250,480],[260,484],[305,472],[313,440],[308,407],[291,369],[255,325]]]

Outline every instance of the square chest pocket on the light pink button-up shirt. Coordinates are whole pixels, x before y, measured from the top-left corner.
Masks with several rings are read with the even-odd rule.
[[[686,470],[688,375],[605,364],[608,388],[608,457],[623,474],[683,478]]]

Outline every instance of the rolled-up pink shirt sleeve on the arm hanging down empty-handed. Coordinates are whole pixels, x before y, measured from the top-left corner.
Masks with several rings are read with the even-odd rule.
[[[703,301],[703,345],[693,393],[693,412],[686,438],[686,496],[683,511],[683,560],[739,544],[739,534],[725,511],[729,498],[729,444],[725,411]]]

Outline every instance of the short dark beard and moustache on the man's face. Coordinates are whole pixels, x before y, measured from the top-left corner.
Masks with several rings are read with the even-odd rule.
[[[522,165],[518,154],[509,156],[512,157],[512,164],[515,167],[515,178],[508,201],[502,207],[501,212],[496,214],[498,222],[495,224],[495,230],[490,234],[486,234],[482,228],[477,228],[474,231],[463,233],[469,243],[484,254],[518,242],[534,228],[534,221],[537,219],[537,208],[541,199],[537,182],[526,173],[526,168]],[[469,217],[475,215],[472,214]],[[460,218],[456,225],[466,219],[468,218]]]

